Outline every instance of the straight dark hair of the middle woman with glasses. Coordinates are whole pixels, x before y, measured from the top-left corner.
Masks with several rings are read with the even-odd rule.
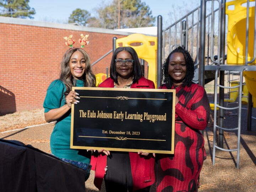
[[[132,58],[133,58],[133,61],[134,61],[133,62],[133,74],[134,74],[133,82],[138,83],[139,79],[142,76],[142,68],[140,66],[138,55],[132,47],[118,47],[114,51],[112,59],[111,59],[111,64],[110,64],[110,78],[113,79],[114,82],[118,85],[118,81],[117,81],[118,74],[116,73],[115,59],[117,57],[117,54],[121,51],[127,51],[128,53],[130,53],[132,55]]]

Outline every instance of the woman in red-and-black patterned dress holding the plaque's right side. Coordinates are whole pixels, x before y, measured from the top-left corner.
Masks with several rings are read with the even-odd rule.
[[[206,91],[192,82],[194,62],[190,53],[178,47],[167,57],[164,84],[159,89],[175,89],[174,155],[156,155],[157,192],[194,192],[206,158],[204,138],[199,130],[206,128],[210,106]]]

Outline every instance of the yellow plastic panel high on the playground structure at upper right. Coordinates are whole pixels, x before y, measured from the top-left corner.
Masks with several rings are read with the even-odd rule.
[[[250,2],[253,2],[250,0]],[[255,2],[255,1],[254,1]],[[246,0],[235,0],[226,2],[226,14],[228,15],[228,52],[227,64],[244,65],[247,61],[252,60],[250,64],[256,64],[254,55],[254,33],[246,34],[246,30],[241,30],[246,27]],[[250,5],[250,4],[249,4]],[[230,8],[229,8],[230,7]],[[249,7],[249,26],[254,28],[255,9]],[[248,37],[248,49],[246,53],[246,36]]]

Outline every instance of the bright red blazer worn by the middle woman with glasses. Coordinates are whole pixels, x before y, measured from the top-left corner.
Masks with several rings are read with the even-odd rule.
[[[107,78],[99,87],[114,87],[114,81]],[[142,76],[138,83],[132,84],[131,88],[155,89],[155,84]],[[153,156],[149,154],[144,157],[133,152],[129,152],[129,156],[133,176],[133,191],[152,185],[155,182],[155,159]],[[92,170],[95,170],[94,185],[100,190],[106,172],[107,155],[92,153],[91,165]]]

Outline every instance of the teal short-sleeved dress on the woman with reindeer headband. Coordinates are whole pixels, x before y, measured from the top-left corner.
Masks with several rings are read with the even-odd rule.
[[[84,87],[84,81],[76,80],[76,87]],[[65,105],[64,92],[66,86],[61,80],[54,80],[47,89],[46,98],[43,103],[44,112],[60,108]],[[50,148],[52,154],[59,158],[90,163],[91,151],[84,149],[70,149],[70,127],[71,109],[61,118],[57,119],[52,135],[50,137]]]

